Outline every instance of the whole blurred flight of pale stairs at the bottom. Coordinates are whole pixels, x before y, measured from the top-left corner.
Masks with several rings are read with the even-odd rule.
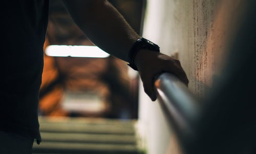
[[[139,154],[134,120],[39,118],[42,142],[33,154]]]

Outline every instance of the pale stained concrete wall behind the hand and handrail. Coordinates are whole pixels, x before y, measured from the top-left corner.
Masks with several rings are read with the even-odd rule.
[[[232,18],[240,1],[148,0],[143,37],[160,46],[161,52],[177,52],[187,73],[189,89],[199,97],[211,87],[225,55]],[[139,93],[138,131],[149,154],[176,153],[178,147],[158,105]],[[176,152],[175,152],[176,151]]]

